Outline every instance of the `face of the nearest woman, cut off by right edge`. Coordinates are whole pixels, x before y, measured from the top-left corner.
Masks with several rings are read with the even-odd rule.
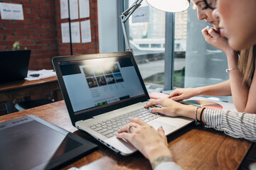
[[[220,33],[234,50],[256,44],[256,1],[218,0]]]

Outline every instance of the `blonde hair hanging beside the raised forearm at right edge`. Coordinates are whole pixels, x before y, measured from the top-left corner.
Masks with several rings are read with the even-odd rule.
[[[243,83],[250,86],[253,74],[255,74],[256,45],[240,52],[238,68],[243,76]]]

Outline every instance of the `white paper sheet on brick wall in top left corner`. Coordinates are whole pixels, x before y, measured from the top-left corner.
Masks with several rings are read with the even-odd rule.
[[[24,20],[21,4],[0,3],[1,19]]]

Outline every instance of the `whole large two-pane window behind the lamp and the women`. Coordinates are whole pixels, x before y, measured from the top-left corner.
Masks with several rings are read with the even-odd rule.
[[[129,6],[134,3],[134,0],[127,1]],[[198,21],[192,2],[188,11],[175,13],[175,20],[169,20],[164,11],[149,6],[146,1],[143,1],[139,8],[145,6],[147,8],[144,10],[149,13],[148,21],[134,22],[131,16],[127,28],[134,57],[148,89],[164,89],[166,77],[173,79],[170,89],[207,86],[228,79],[228,74],[225,74],[228,67],[227,58],[222,51],[208,45],[204,40],[201,30],[206,28],[207,23]],[[139,12],[139,8],[135,14]],[[166,26],[174,26],[174,35],[170,30],[166,33]],[[174,59],[169,60],[167,57],[173,62],[171,63],[166,61],[165,52],[171,49],[170,45],[173,43],[174,51],[168,54]],[[170,65],[172,71],[168,74],[164,73],[167,62],[174,66]],[[151,86],[155,86],[155,89],[150,88]]]

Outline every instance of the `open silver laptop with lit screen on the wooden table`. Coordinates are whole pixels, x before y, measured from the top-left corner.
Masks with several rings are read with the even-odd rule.
[[[166,135],[193,121],[144,108],[150,98],[132,52],[54,57],[53,66],[73,125],[119,154],[137,151],[114,135],[129,118],[162,126]]]

